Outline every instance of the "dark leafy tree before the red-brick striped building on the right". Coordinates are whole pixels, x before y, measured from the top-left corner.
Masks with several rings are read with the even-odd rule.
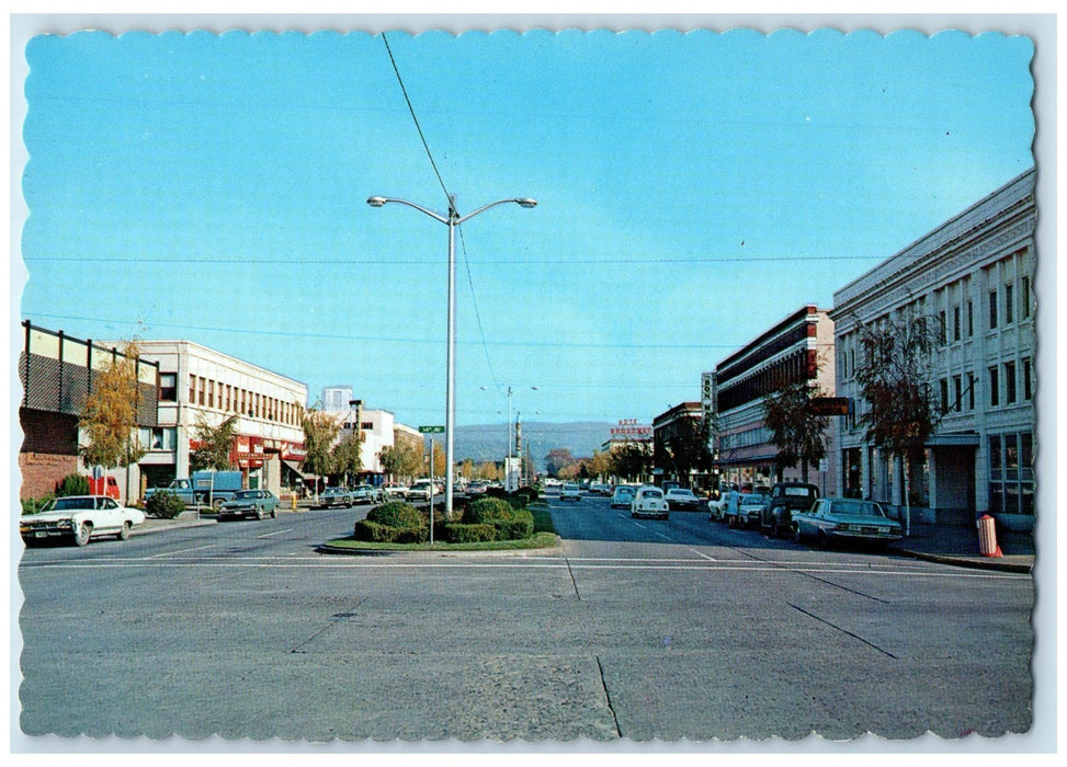
[[[820,397],[817,384],[805,380],[787,384],[763,399],[763,425],[771,430],[771,442],[777,447],[774,462],[777,478],[799,461],[804,481],[808,467],[826,458],[826,430],[830,420],[811,412],[810,401]]]

